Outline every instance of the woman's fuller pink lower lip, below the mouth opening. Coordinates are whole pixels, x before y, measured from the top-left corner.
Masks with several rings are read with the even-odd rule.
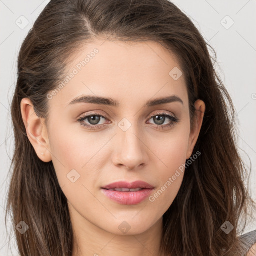
[[[150,193],[152,192],[153,188],[148,189],[144,188],[142,190],[136,192],[121,192],[121,191],[114,191],[114,190],[107,190],[102,188],[102,192],[111,200],[118,202],[120,204],[132,205],[138,204],[146,199]]]

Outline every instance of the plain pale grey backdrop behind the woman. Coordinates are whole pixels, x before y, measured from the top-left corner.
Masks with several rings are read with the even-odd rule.
[[[10,103],[17,78],[17,55],[23,39],[48,2],[0,0],[0,256],[18,255],[13,235],[8,242],[4,223],[7,173],[14,145]],[[256,0],[172,2],[190,17],[217,53],[215,68],[233,99],[239,150],[247,168],[251,164],[249,189],[256,200]],[[8,230],[11,228],[9,223]],[[254,229],[256,223],[250,223],[245,231]]]

